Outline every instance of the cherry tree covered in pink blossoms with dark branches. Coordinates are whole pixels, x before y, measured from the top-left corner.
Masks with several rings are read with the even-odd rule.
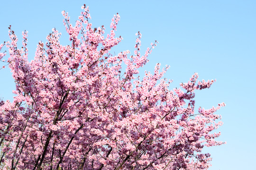
[[[69,45],[61,45],[56,29],[39,42],[28,61],[27,32],[22,47],[11,26],[6,60],[16,83],[13,102],[0,101],[0,167],[8,170],[205,170],[204,146],[215,146],[222,122],[214,114],[224,103],[194,111],[196,90],[214,80],[192,75],[169,90],[163,79],[168,66],[138,76],[156,45],[141,54],[141,33],[135,51],[112,55],[122,37],[92,28],[87,6],[75,25],[65,11]],[[0,59],[6,52],[0,53]]]

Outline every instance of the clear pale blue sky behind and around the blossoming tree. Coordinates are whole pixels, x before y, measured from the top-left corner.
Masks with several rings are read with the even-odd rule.
[[[137,31],[142,34],[142,51],[159,42],[142,74],[159,62],[171,66],[165,74],[174,80],[170,88],[187,82],[194,72],[200,80],[216,78],[210,89],[196,93],[197,108],[227,104],[218,111],[224,122],[219,140],[227,144],[204,148],[213,157],[210,170],[256,169],[255,0],[5,0],[0,3],[0,43],[9,41],[12,25],[19,40],[21,32],[28,31],[29,60],[37,42],[46,42],[54,27],[67,44],[61,11],[68,12],[74,23],[84,3],[92,26],[104,25],[106,33],[113,15],[121,16],[116,35],[124,40],[112,52],[134,51]],[[0,77],[0,96],[12,100],[15,84],[9,69],[1,69]]]

